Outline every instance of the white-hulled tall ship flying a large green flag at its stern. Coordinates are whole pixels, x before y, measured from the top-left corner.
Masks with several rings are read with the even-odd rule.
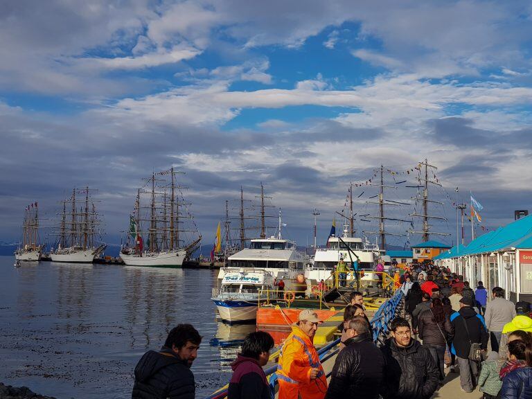
[[[202,236],[170,168],[153,172],[136,193],[130,229],[120,257],[125,265],[181,267],[199,247]]]

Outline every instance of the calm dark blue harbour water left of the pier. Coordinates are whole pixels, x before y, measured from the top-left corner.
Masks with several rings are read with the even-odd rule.
[[[203,335],[196,397],[225,384],[255,326],[218,323],[214,270],[41,262],[0,257],[0,381],[56,398],[130,398],[133,369],[177,323]],[[220,346],[222,343],[222,346]]]

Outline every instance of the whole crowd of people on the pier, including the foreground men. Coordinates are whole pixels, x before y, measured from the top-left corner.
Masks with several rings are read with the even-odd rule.
[[[479,389],[485,399],[532,398],[530,303],[514,305],[500,287],[489,294],[481,281],[472,289],[462,276],[432,265],[407,269],[398,289],[405,314],[391,321],[380,346],[363,294],[351,293],[329,381],[313,342],[321,320],[301,311],[278,357],[278,398],[429,399],[446,371],[459,372],[462,391]],[[190,365],[201,342],[190,324],[173,328],[161,351],[148,351],[137,364],[132,398],[195,398]],[[229,399],[271,397],[263,366],[272,348],[267,332],[245,337],[231,366]]]

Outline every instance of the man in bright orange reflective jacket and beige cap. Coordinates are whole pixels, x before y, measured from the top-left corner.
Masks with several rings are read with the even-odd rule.
[[[299,313],[298,320],[279,355],[278,399],[323,399],[327,393],[327,378],[313,344],[321,320],[308,309]]]

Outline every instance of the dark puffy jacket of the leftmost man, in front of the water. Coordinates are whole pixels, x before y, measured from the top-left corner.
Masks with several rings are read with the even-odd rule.
[[[132,399],[194,399],[194,375],[170,348],[146,352],[135,367]]]

